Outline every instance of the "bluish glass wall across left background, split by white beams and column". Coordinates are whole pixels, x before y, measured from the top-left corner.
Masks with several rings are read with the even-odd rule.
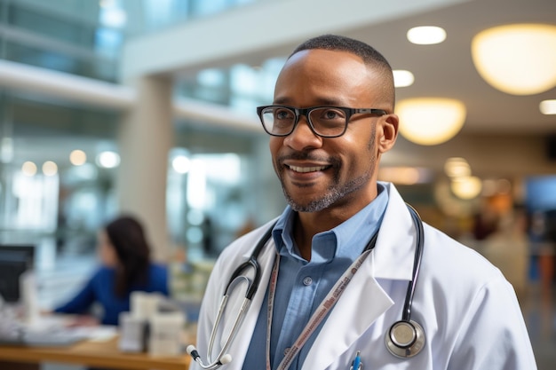
[[[0,59],[116,83],[117,63],[127,37],[248,3],[0,0]],[[252,110],[258,101],[267,100],[251,92],[268,91],[253,85],[262,81],[259,77],[242,66],[232,72],[204,71],[192,77],[195,86],[184,88],[179,83],[176,93]],[[252,89],[239,90],[245,86]],[[0,91],[3,240],[36,239],[40,234],[52,238],[52,246],[59,251],[91,254],[97,229],[117,212],[120,119],[119,112],[95,106]],[[247,210],[251,206],[242,206],[249,204],[242,197],[253,187],[242,177],[250,170],[251,157],[258,155],[253,152],[258,144],[253,143],[266,138],[235,133],[237,140],[231,143],[226,139],[229,132],[207,132],[199,122],[179,122],[176,130],[177,147],[169,155],[168,171],[171,240],[196,250],[198,257],[214,256],[254,217]],[[79,152],[83,161],[70,160]],[[176,153],[186,154],[183,161],[189,161],[190,169],[175,169]],[[109,155],[115,158],[112,163],[105,162]],[[44,168],[48,163],[52,169]],[[195,193],[202,189],[203,196],[192,197],[194,188]],[[209,240],[209,229],[219,236]]]

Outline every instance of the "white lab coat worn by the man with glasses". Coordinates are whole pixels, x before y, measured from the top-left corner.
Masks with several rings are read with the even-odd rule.
[[[393,185],[386,184],[386,189],[389,202],[376,247],[330,312],[303,369],[346,370],[356,351],[361,350],[365,370],[535,370],[533,350],[512,286],[484,257],[427,224],[412,310],[412,319],[425,329],[425,348],[409,359],[395,358],[386,350],[385,333],[401,319],[416,248],[415,228],[404,201]],[[271,224],[235,240],[219,256],[199,318],[197,347],[203,360],[227,281],[249,258]],[[274,255],[274,242],[270,240],[258,257],[260,286],[241,331],[227,350],[233,360],[222,369],[242,369]],[[242,298],[243,291],[230,298],[215,353],[222,344],[222,327],[231,324]],[[191,368],[200,367],[194,363]]]

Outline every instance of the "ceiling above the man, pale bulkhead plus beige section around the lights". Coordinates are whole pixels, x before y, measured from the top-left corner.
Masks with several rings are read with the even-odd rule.
[[[486,28],[528,22],[556,25],[556,0],[393,0],[386,4],[344,0],[341,6],[325,5],[330,3],[260,2],[238,12],[147,35],[137,42],[131,40],[124,52],[123,66],[130,71],[135,68],[143,73],[176,76],[233,63],[258,66],[267,58],[289,55],[298,43],[315,33],[337,33],[373,45],[394,69],[407,69],[415,75],[412,86],[398,89],[398,100],[410,97],[462,100],[467,107],[462,133],[556,132],[556,116],[539,111],[540,101],[556,98],[556,89],[533,96],[496,91],[481,79],[471,57],[473,35]],[[365,12],[369,15],[360,15]],[[241,14],[247,15],[241,18]],[[349,17],[353,21],[343,19]],[[243,24],[249,26],[242,27]],[[408,29],[426,25],[444,28],[448,34],[446,41],[436,45],[409,43]],[[228,29],[226,35],[222,28]],[[519,52],[518,47],[516,53]],[[141,59],[140,55],[149,58]]]

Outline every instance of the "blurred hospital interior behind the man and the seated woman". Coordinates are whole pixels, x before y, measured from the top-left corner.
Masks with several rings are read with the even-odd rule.
[[[256,106],[290,51],[328,33],[394,69],[403,127],[379,180],[504,272],[553,369],[553,0],[0,0],[0,249],[34,248],[52,309],[98,263],[99,228],[131,213],[195,323],[219,252],[285,206]]]

